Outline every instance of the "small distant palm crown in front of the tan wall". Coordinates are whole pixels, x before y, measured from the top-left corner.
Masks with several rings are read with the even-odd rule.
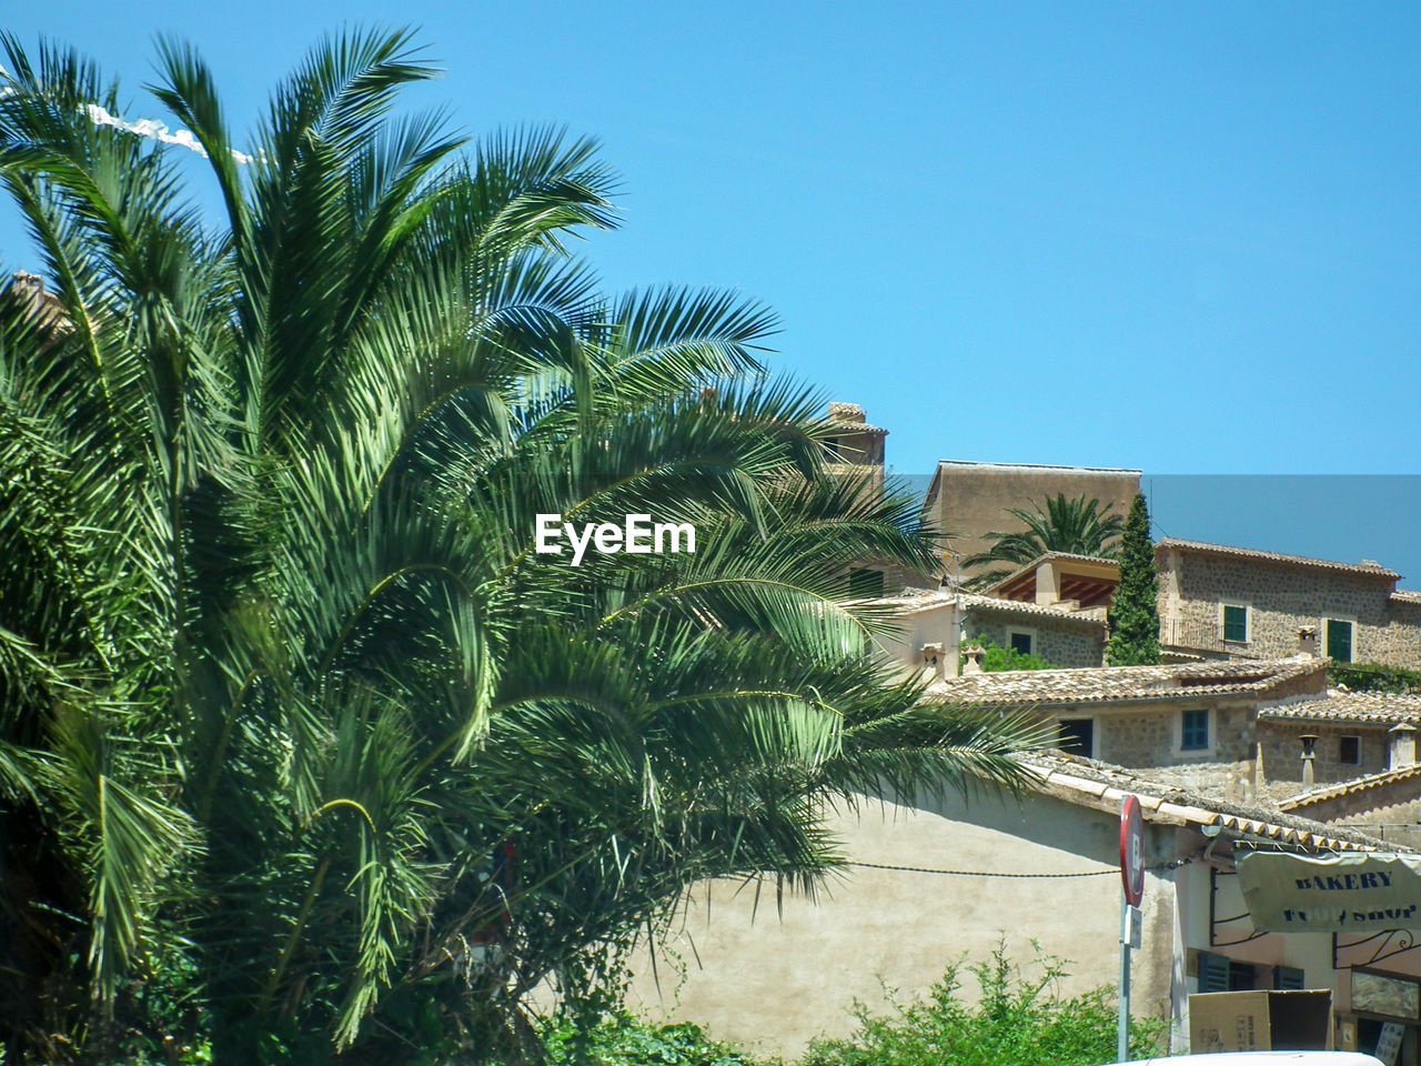
[[[1101,507],[1100,500],[1086,496],[1066,499],[1066,493],[1059,492],[1047,496],[1043,503],[1032,502],[1032,510],[1007,507],[1006,513],[1026,529],[1016,533],[988,533],[996,543],[986,551],[968,556],[962,566],[972,570],[993,569],[973,574],[962,583],[963,587],[988,588],[1016,567],[1026,566],[1047,551],[1114,559],[1124,529],[1124,519],[1110,513],[1114,506],[1107,503]],[[1007,566],[996,566],[999,563]]]

